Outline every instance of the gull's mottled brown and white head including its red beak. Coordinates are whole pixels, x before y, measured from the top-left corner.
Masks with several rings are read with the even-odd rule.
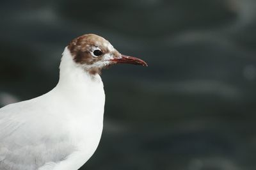
[[[100,73],[102,68],[117,63],[147,66],[141,59],[120,54],[108,40],[93,34],[72,40],[68,49],[77,65],[91,74]]]

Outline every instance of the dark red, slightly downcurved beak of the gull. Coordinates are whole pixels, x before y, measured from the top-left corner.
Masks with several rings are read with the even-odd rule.
[[[127,63],[127,64],[132,64],[132,65],[141,65],[141,66],[148,66],[145,61],[142,59],[134,58],[131,56],[125,56],[122,55],[121,58],[116,58],[116,59],[111,59],[114,63]]]

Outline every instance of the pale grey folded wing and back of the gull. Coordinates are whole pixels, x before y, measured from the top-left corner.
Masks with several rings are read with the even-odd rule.
[[[41,108],[40,112],[44,111],[42,106],[36,108]],[[56,125],[51,121],[46,121],[49,123],[47,125],[41,125],[40,118],[36,119],[31,111],[38,112],[35,105],[29,102],[7,105],[0,109],[1,170],[35,170],[47,162],[60,162],[76,150],[65,133],[51,135],[47,132],[52,126],[56,128]]]

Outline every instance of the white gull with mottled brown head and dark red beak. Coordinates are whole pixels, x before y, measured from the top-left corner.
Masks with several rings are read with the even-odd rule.
[[[58,84],[40,97],[0,109],[1,170],[77,170],[100,142],[105,92],[103,68],[145,61],[120,54],[95,34],[65,47]]]

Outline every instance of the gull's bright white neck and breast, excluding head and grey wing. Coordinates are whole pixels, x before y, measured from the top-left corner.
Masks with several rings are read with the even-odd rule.
[[[66,47],[61,58],[60,80],[47,94],[51,95],[45,95],[44,100],[51,103],[54,115],[60,115],[58,121],[65,122],[63,129],[76,147],[54,169],[79,169],[96,150],[102,134],[105,93],[101,78],[77,65]]]

